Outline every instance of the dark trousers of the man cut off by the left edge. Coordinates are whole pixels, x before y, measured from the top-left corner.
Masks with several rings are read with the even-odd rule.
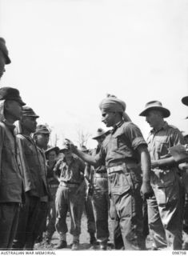
[[[0,203],[0,250],[12,247],[18,226],[19,210],[18,202]]]

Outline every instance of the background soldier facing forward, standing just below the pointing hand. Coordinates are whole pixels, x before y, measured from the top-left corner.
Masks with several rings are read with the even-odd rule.
[[[72,250],[79,249],[79,235],[81,233],[82,210],[85,197],[84,170],[85,164],[78,156],[72,154],[64,144],[64,157],[54,167],[54,174],[59,183],[56,198],[56,230],[59,234],[59,243],[56,249],[66,248],[66,214],[70,212],[70,234],[73,235]]]

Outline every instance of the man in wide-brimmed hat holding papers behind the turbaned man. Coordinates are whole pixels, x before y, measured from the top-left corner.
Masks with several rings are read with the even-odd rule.
[[[140,114],[153,129],[147,139],[151,158],[151,186],[154,190],[148,199],[149,227],[154,240],[153,250],[162,250],[166,246],[171,250],[182,249],[182,218],[180,181],[178,168],[169,148],[184,144],[181,132],[170,126],[164,118],[170,111],[161,102],[146,103]]]

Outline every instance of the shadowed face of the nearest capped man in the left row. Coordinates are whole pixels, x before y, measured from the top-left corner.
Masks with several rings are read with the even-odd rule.
[[[22,118],[22,106],[19,102],[6,100],[5,110],[14,122]]]

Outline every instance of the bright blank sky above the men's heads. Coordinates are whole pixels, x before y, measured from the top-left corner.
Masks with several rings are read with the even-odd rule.
[[[0,36],[12,63],[0,86],[22,99],[62,138],[92,135],[101,122],[99,102],[114,94],[147,137],[139,113],[158,100],[166,121],[188,131],[187,0],[0,0]]]

